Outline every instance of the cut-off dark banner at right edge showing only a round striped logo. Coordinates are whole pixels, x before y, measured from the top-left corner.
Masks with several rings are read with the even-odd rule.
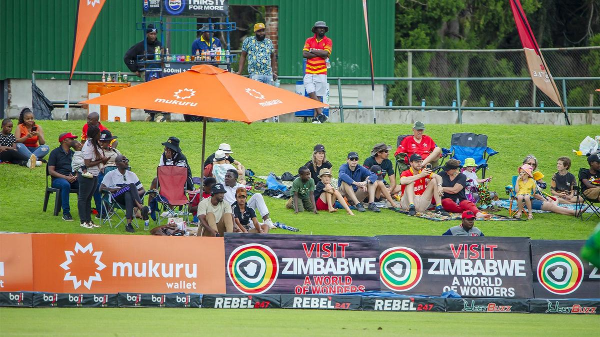
[[[598,268],[580,257],[585,240],[531,240],[536,298],[600,298]]]

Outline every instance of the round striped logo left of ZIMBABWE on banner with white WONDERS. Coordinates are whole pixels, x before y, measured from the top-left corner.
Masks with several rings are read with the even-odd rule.
[[[415,287],[423,276],[423,262],[419,254],[407,247],[392,247],[379,255],[379,277],[391,290],[407,291]]]

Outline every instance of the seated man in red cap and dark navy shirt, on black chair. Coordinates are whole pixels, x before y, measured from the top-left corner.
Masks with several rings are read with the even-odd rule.
[[[73,151],[71,146],[77,139],[72,133],[61,133],[58,136],[60,145],[53,149],[48,157],[48,173],[52,177],[52,187],[58,188],[61,194],[62,219],[73,221],[71,207],[69,205],[69,194],[71,189],[79,189],[77,174],[71,168]],[[83,157],[82,157],[83,160]]]

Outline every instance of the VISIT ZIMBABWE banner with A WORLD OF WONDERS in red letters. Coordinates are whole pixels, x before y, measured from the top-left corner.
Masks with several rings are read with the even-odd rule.
[[[225,234],[227,294],[379,290],[374,237]]]

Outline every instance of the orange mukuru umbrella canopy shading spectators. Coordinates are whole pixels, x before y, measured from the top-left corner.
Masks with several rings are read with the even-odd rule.
[[[185,113],[246,123],[298,110],[327,107],[319,101],[212,65],[195,65],[180,74],[80,103]]]

